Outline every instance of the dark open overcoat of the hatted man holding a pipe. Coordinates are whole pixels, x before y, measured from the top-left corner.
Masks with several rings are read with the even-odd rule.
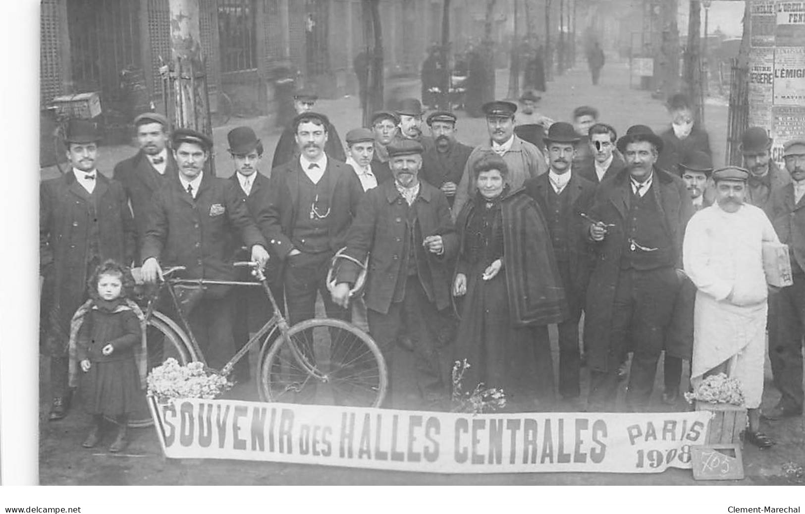
[[[665,229],[671,234],[676,255],[676,267],[682,269],[682,241],[687,221],[693,214],[693,204],[685,183],[678,176],[654,168],[653,184],[649,193],[654,194],[665,221]],[[647,193],[648,194],[648,193]],[[598,186],[590,209],[590,217],[614,224],[601,242],[594,242],[596,255],[587,288],[584,309],[584,342],[589,349],[590,367],[596,371],[607,369],[611,351],[620,350],[622,342],[613,342],[610,328],[617,281],[621,274],[621,251],[623,249],[630,210],[631,184],[629,170],[623,169],[616,176]],[[584,237],[589,237],[590,222],[582,223]],[[617,359],[616,359],[617,360]],[[609,359],[609,363],[612,359]]]

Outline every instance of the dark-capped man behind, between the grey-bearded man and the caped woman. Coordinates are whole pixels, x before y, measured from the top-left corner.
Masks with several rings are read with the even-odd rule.
[[[433,146],[422,155],[422,178],[448,197],[452,205],[456,188],[473,147],[456,141],[456,114],[440,110],[427,117],[427,126],[435,138]]]

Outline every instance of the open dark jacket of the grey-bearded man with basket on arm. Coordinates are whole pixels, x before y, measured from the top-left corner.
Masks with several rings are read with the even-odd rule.
[[[437,309],[445,309],[451,305],[452,270],[448,269],[448,263],[452,262],[458,250],[458,235],[450,218],[450,206],[440,189],[420,180],[419,197],[413,208],[416,209],[423,238],[441,235],[444,242],[442,255],[426,252],[430,283],[424,280],[423,288],[428,300],[435,302]],[[369,255],[364,298],[366,307],[378,313],[389,312],[398,277],[401,271],[406,272],[401,267],[407,209],[394,181],[369,189],[361,199],[357,218],[347,236],[347,255],[359,262]],[[419,263],[420,280],[428,275],[423,273],[422,264]],[[357,275],[357,264],[348,261],[341,267],[337,281],[354,283]]]

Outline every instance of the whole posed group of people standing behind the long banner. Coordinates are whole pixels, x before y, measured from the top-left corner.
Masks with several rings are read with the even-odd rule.
[[[247,126],[228,134],[234,173],[223,179],[205,168],[208,136],[140,114],[139,151],[107,178],[95,168],[97,131],[70,123],[72,169],[41,186],[50,419],[64,417],[78,385],[98,424],[118,419],[113,446],[125,448],[145,345],[128,268],[141,267],[146,283],[165,265],[186,267],[186,278],[234,280],[242,258],[266,267],[291,324],[314,317],[320,296],[328,317],[369,330],[390,370],[389,407],[409,383],[419,407],[449,408],[452,363],[466,359],[469,388],[502,388],[514,412],[557,408],[556,392],[562,408],[613,411],[626,375],[626,408],[645,411],[664,352],[665,403],[679,402],[683,360],[692,358],[694,382],[725,371],[744,386],[748,440],[768,447],[759,429],[768,322],[782,399],[766,418],[801,415],[805,141],[786,143],[783,171],[753,127],[741,145],[745,168],[716,170],[706,132],[675,97],[663,134],[635,125],[618,137],[582,106],[572,122],[544,123],[544,150],[517,135],[516,104],[487,102],[489,139],[470,147],[456,139],[455,114],[423,120],[409,98],[348,131],[342,147],[315,102],[296,94],[267,178],[262,142]],[[767,293],[764,242],[789,245],[793,286]],[[341,249],[349,259],[328,288]],[[363,262],[365,292],[352,298]],[[231,288],[204,289],[188,317],[209,366],[246,342],[255,309],[270,315]],[[403,351],[413,359],[394,365]],[[248,379],[247,367],[236,371]]]

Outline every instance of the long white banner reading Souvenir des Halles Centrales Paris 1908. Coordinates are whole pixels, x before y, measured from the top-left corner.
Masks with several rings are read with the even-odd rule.
[[[430,473],[658,473],[691,468],[711,412],[457,414],[237,400],[151,413],[167,458]]]

